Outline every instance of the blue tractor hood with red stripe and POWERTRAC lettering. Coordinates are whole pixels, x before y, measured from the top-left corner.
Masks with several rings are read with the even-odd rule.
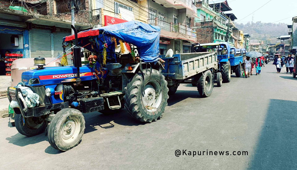
[[[100,68],[100,67],[97,67]],[[103,78],[106,77],[107,69],[103,68]],[[98,77],[101,77],[99,72]],[[26,86],[40,86],[49,84],[60,84],[66,82],[75,82],[77,70],[74,66],[64,67],[45,67],[43,69],[34,69],[23,72],[22,82]],[[96,79],[95,71],[89,66],[80,67],[81,81],[90,81]]]

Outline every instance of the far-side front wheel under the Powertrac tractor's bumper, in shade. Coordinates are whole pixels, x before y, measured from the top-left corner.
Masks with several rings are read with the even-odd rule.
[[[44,132],[46,121],[41,117],[25,117],[15,114],[15,128],[25,136],[35,136]]]

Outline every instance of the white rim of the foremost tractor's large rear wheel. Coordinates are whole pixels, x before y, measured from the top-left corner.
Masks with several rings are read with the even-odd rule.
[[[142,104],[149,112],[156,111],[162,102],[162,89],[160,83],[155,80],[149,81],[144,86],[142,93]]]

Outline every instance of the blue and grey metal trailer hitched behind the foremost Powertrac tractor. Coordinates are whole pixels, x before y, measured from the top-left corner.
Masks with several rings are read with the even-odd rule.
[[[165,61],[162,74],[168,82],[169,95],[176,92],[179,84],[192,79],[200,96],[209,97],[213,91],[213,79],[217,74],[217,55],[215,52],[173,54],[160,56]],[[222,76],[218,73],[218,87],[222,86]]]

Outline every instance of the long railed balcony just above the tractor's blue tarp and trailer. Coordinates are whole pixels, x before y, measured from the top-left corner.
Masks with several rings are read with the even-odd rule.
[[[148,19],[148,23],[161,28],[161,37],[196,42],[196,32],[181,23],[168,23],[158,18]],[[182,35],[179,35],[179,33]]]

